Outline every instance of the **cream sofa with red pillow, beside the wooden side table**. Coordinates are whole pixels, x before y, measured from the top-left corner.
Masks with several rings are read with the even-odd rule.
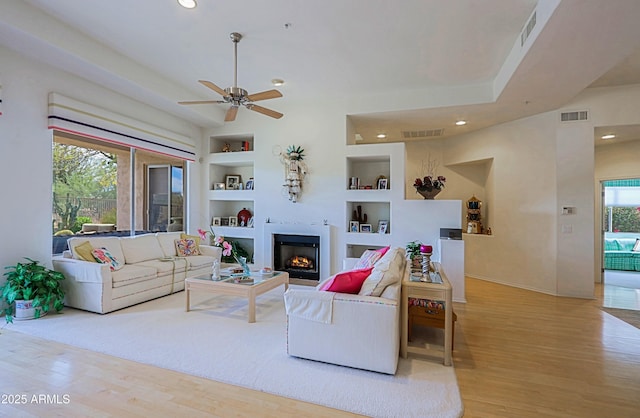
[[[349,269],[353,260],[343,266]],[[376,269],[384,269],[378,271]],[[372,277],[383,279],[379,296],[290,287],[285,292],[287,352],[326,363],[395,374],[400,350],[400,293],[409,268],[403,248],[390,249],[374,265]]]

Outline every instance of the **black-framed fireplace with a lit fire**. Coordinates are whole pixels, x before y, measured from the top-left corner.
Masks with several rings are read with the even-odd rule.
[[[273,234],[273,266],[294,279],[320,280],[320,237]]]

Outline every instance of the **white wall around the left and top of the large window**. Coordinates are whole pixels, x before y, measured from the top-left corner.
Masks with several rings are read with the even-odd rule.
[[[0,178],[0,266],[30,257],[51,267],[52,132],[47,100],[55,91],[149,124],[196,138],[201,132],[184,121],[134,100],[35,62],[0,46],[2,107]],[[191,193],[199,200],[199,177]],[[193,207],[192,210],[199,210]],[[199,216],[199,213],[196,214]],[[0,279],[2,282],[3,279]]]

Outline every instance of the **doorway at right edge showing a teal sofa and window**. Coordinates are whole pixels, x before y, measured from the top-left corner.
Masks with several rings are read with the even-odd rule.
[[[601,184],[603,306],[640,310],[640,179]]]

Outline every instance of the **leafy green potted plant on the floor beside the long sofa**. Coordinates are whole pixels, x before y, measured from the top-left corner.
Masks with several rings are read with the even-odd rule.
[[[5,267],[10,271],[4,274],[7,281],[0,286],[0,292],[8,305],[5,317],[9,323],[13,322],[14,304],[16,319],[40,318],[46,315],[51,307],[57,312],[64,307],[64,290],[60,285],[64,275],[46,268],[38,261],[26,259],[28,263]],[[23,311],[25,309],[27,311]]]

